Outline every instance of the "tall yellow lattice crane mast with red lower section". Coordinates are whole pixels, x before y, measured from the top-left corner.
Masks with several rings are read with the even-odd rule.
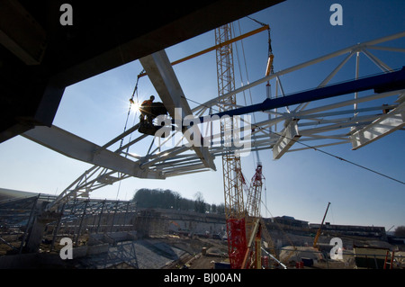
[[[233,68],[232,45],[222,43],[232,39],[231,24],[222,25],[215,29],[216,62],[218,95],[228,94],[235,90],[235,76]],[[229,107],[236,106],[236,95],[219,101],[220,112],[229,110]],[[232,142],[232,129],[236,129],[236,121],[226,118],[220,122],[221,141],[226,149],[227,143]],[[245,208],[243,202],[243,188],[241,178],[238,175],[240,157],[229,150],[222,156],[225,217],[227,220],[228,254],[230,267],[240,268],[246,253],[246,229],[245,229]]]

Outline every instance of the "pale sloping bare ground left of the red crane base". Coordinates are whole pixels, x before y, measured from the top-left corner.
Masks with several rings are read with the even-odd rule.
[[[77,260],[75,268],[212,269],[215,262],[228,260],[227,242],[211,238],[164,235],[124,241],[121,245],[121,250],[127,253],[117,258],[121,262],[113,262],[113,257],[120,253],[120,243],[117,243],[108,248],[108,254]]]

